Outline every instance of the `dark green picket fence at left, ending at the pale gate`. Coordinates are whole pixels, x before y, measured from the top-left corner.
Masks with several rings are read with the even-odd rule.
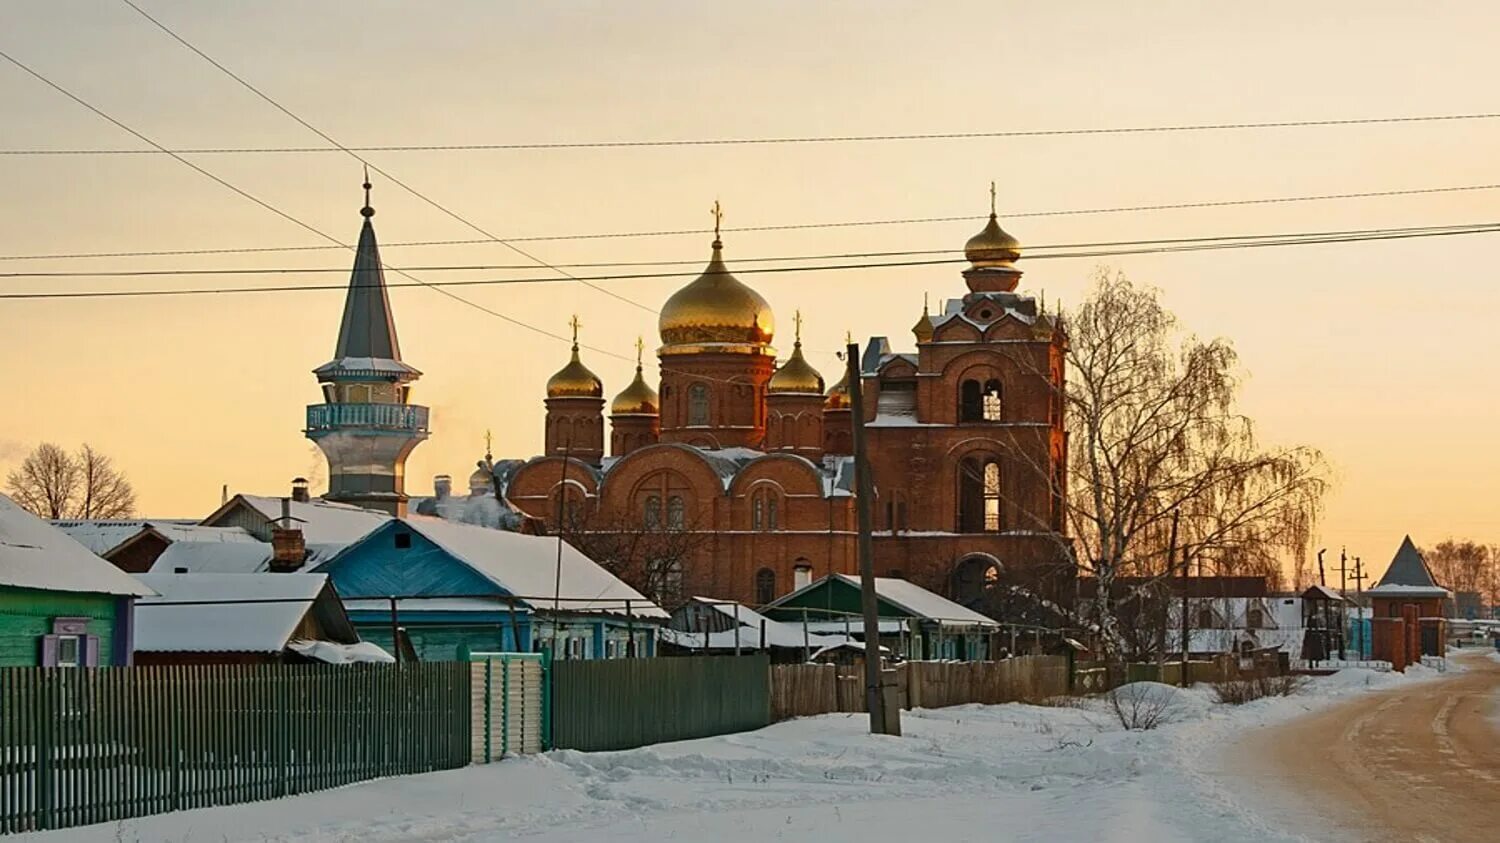
[[[0,669],[0,832],[468,762],[458,662]]]

